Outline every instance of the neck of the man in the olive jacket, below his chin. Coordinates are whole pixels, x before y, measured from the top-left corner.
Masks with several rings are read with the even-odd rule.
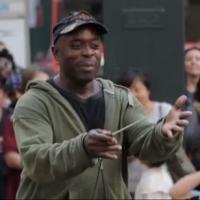
[[[87,99],[88,97],[99,92],[101,88],[99,82],[96,79],[88,83],[79,83],[69,79],[62,79],[60,75],[57,75],[54,77],[54,82],[64,91],[70,92],[81,99]]]

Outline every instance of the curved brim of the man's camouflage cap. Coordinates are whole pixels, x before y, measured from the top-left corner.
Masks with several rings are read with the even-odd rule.
[[[67,34],[70,33],[82,26],[93,26],[99,31],[101,34],[106,34],[108,33],[108,28],[105,27],[103,24],[99,22],[79,22],[79,23],[73,23],[69,26],[66,26],[59,35]]]

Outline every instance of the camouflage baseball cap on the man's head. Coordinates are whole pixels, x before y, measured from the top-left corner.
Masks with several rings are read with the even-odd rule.
[[[70,33],[77,28],[91,25],[94,26],[100,34],[108,32],[107,27],[98,22],[90,13],[85,10],[72,11],[66,17],[62,18],[53,28],[53,44],[64,34]]]

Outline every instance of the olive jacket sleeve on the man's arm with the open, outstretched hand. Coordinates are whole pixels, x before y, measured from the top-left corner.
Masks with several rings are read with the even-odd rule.
[[[124,126],[134,123],[126,131],[128,152],[142,160],[160,161],[175,154],[182,142],[182,135],[169,139],[162,135],[161,127],[164,119],[157,124],[149,123],[144,115],[141,104],[130,95],[124,115]]]

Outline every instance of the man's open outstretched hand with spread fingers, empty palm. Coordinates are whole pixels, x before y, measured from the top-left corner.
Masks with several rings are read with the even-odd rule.
[[[191,111],[183,111],[187,97],[185,95],[180,96],[174,107],[169,111],[166,116],[165,123],[162,127],[163,135],[173,138],[175,134],[182,134],[184,128],[189,124],[188,118],[192,115]]]

